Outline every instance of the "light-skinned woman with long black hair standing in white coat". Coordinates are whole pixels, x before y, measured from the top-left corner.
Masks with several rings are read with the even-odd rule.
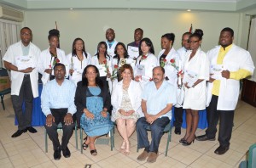
[[[142,87],[152,81],[152,70],[157,65],[157,59],[154,56],[154,46],[149,38],[143,38],[139,47],[140,56],[135,65],[135,81],[139,81]]]

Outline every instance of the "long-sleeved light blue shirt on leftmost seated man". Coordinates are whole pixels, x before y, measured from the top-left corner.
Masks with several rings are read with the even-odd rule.
[[[61,86],[57,81],[49,81],[41,95],[41,107],[45,116],[51,114],[50,109],[67,108],[67,113],[74,114],[77,109],[74,104],[76,86],[72,81],[64,79]]]

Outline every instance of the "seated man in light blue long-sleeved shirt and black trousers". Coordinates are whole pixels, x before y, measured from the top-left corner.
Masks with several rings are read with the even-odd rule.
[[[54,67],[55,80],[49,81],[41,95],[41,106],[46,116],[45,129],[54,147],[54,159],[61,159],[61,150],[65,158],[70,157],[67,143],[73,134],[73,114],[76,112],[74,95],[76,86],[65,79],[65,65],[57,63]],[[57,126],[61,122],[63,127],[62,142],[58,139]]]

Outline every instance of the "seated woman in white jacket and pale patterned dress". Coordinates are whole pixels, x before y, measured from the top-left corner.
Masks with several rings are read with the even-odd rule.
[[[116,121],[118,131],[123,137],[120,152],[128,155],[130,154],[129,137],[135,131],[137,119],[143,115],[142,87],[139,82],[133,81],[133,70],[130,64],[124,64],[120,68],[120,76],[123,80],[113,87],[111,96],[113,105],[111,120]]]

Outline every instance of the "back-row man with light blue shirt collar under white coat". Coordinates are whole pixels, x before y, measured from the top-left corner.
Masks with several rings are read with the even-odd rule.
[[[106,31],[106,43],[107,43],[107,46],[108,46],[108,55],[113,58],[113,56],[115,55],[114,54],[114,48],[116,46],[116,44],[118,43],[116,40],[114,40],[115,38],[115,33],[113,31],[112,28],[109,28],[107,31]]]

